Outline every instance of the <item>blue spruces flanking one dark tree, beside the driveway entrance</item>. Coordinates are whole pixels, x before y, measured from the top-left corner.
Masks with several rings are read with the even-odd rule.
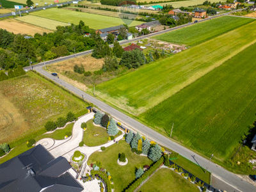
[[[115,136],[118,133],[118,128],[116,126],[115,120],[109,118],[107,114],[102,114],[99,110],[94,116],[93,122],[97,125],[101,125],[107,129],[107,132],[111,136]]]

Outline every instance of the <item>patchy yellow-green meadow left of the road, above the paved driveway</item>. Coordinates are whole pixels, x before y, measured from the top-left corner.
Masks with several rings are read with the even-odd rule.
[[[82,100],[32,72],[1,81],[0,99],[0,143],[44,129],[47,120],[86,107]]]

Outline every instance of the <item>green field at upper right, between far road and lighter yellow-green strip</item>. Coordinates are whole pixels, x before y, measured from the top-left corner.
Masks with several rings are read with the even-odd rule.
[[[217,19],[207,20],[189,26],[187,28],[177,29],[170,33],[154,36],[154,39],[175,44],[196,45],[233,29],[239,28],[244,24],[252,22],[254,19],[245,19],[241,17],[219,17]]]

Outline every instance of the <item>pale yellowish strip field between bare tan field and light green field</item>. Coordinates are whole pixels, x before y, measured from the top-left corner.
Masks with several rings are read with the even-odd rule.
[[[18,17],[17,20],[22,22],[27,22],[28,24],[33,24],[40,28],[45,28],[54,31],[57,26],[68,26],[69,24],[65,22],[60,22],[52,19],[45,19],[42,17],[36,17],[34,15],[26,15],[24,17]]]

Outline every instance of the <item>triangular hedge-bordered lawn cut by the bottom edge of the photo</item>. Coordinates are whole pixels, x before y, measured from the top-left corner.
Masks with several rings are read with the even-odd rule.
[[[148,179],[148,181],[145,182],[138,191],[199,192],[199,189],[189,182],[188,179],[184,179],[178,173],[175,173],[168,168],[161,168],[150,179]]]

